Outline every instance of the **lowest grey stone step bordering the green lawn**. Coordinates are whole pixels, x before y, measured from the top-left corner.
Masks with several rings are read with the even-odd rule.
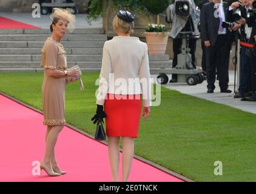
[[[73,65],[79,65],[81,68],[98,68],[101,69],[101,61],[86,61],[86,62],[76,62],[69,61],[69,67]],[[172,61],[150,61],[149,62],[150,69],[151,68],[169,68],[172,66]],[[40,61],[0,61],[0,69],[15,69],[15,68],[40,68]]]

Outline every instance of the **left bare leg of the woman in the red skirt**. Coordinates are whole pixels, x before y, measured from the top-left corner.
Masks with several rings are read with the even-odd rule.
[[[109,162],[111,166],[113,182],[118,182],[120,158],[119,139],[120,137],[109,136]]]

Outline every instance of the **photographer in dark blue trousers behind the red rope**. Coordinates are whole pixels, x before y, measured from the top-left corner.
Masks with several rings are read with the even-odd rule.
[[[251,72],[251,59],[248,55],[248,50],[252,48],[249,44],[249,39],[252,32],[252,27],[246,24],[248,20],[248,13],[252,11],[252,2],[249,0],[243,0],[242,4],[240,2],[233,2],[231,7],[234,10],[239,9],[241,12],[241,19],[238,20],[238,24],[241,25],[240,28],[240,83],[238,88],[238,93],[235,94],[234,98],[244,98],[249,96],[250,91],[250,72]]]

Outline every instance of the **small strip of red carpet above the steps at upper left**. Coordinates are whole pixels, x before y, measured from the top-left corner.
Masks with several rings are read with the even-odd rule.
[[[25,24],[23,22],[15,21],[0,16],[0,29],[39,29],[34,25]]]

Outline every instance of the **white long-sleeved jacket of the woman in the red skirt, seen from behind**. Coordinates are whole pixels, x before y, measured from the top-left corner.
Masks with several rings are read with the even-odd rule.
[[[96,104],[103,105],[107,93],[143,94],[144,107],[151,103],[151,82],[147,44],[133,36],[115,36],[103,47]],[[145,84],[146,81],[146,84]]]

